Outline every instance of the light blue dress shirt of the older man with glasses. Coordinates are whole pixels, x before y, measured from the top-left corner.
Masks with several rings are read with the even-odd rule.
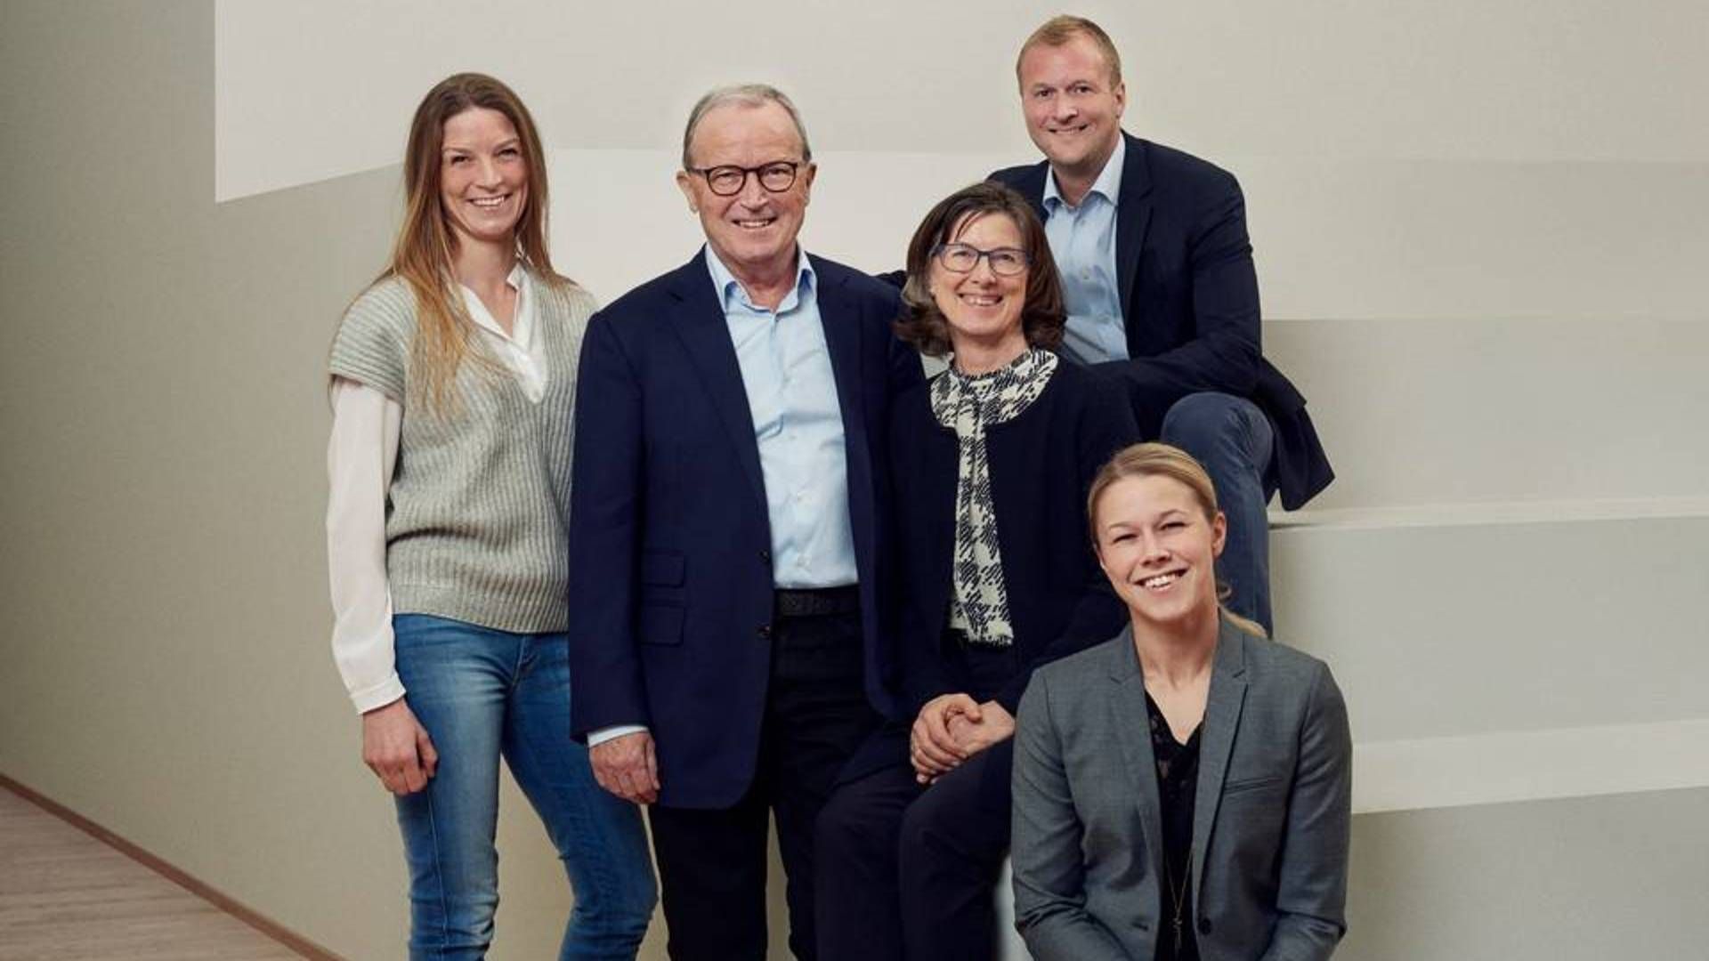
[[[843,407],[819,315],[807,251],[796,284],[778,310],[755,306],[706,246],[706,267],[725,308],[742,366],[754,439],[771,515],[771,576],[776,587],[843,587],[860,580],[849,523]]]

